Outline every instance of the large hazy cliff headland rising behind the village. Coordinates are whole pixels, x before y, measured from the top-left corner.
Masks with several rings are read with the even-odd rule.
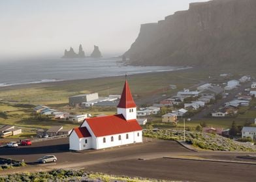
[[[141,25],[124,54],[129,64],[256,66],[256,0],[191,3],[158,23]]]

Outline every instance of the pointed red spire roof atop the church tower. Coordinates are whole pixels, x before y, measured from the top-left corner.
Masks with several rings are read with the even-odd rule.
[[[131,95],[131,90],[127,81],[125,81],[125,85],[123,86],[123,92],[121,94],[121,99],[118,104],[120,108],[130,108],[136,107],[135,101],[133,100],[133,96]]]

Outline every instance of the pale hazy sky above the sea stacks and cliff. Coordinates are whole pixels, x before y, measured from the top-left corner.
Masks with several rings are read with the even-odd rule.
[[[157,22],[203,0],[0,0],[0,58],[58,56],[70,46],[86,55],[129,49],[140,24]],[[204,0],[205,1],[205,0]]]

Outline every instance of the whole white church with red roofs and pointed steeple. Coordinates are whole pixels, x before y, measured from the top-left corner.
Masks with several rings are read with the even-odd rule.
[[[86,118],[69,135],[69,149],[103,149],[142,142],[142,128],[136,120],[136,104],[127,81],[118,114]]]

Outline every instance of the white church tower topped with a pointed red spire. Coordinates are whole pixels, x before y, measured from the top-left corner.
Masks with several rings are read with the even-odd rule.
[[[125,80],[120,103],[118,104],[118,114],[123,114],[125,120],[136,120],[136,104],[131,95],[127,80]]]

